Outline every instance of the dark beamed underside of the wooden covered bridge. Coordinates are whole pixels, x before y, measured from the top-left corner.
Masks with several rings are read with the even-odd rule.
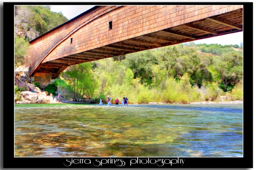
[[[243,31],[242,9],[40,63],[33,74],[36,72],[53,73],[52,79],[55,79],[68,66],[74,64],[240,31]]]

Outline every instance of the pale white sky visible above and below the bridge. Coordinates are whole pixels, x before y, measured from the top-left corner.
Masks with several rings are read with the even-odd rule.
[[[84,13],[88,9],[91,9],[94,5],[51,5],[51,11],[62,12],[69,20]],[[194,41],[194,43],[206,43],[206,44],[221,44],[221,45],[240,45],[243,42],[243,32],[237,32],[227,34],[223,36],[217,36],[212,38],[200,39]]]

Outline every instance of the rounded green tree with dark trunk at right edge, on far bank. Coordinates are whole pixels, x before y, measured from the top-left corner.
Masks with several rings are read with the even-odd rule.
[[[214,67],[219,73],[224,84],[224,91],[227,91],[227,84],[236,84],[243,78],[243,57],[237,52],[229,52],[216,61]]]

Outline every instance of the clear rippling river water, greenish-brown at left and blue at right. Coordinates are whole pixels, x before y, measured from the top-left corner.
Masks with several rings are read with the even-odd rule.
[[[16,104],[15,156],[242,157],[242,107]]]

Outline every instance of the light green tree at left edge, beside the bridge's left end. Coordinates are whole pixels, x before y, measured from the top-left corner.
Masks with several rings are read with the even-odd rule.
[[[28,55],[28,48],[29,48],[29,43],[26,42],[24,39],[15,36],[15,46],[14,46],[14,51],[15,51],[15,61],[14,61],[14,70],[18,68],[19,66],[25,64],[25,59]]]

